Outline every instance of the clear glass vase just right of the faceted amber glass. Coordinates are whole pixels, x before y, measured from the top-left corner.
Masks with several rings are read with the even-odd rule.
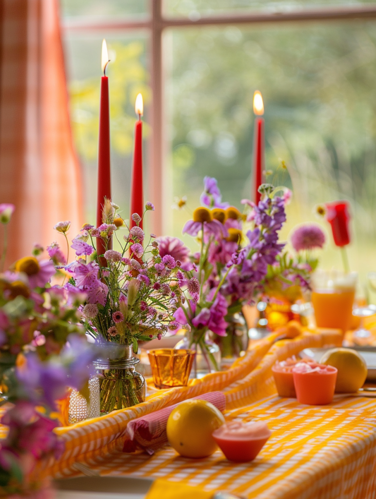
[[[190,378],[202,378],[206,374],[218,371],[221,366],[221,350],[211,340],[210,331],[198,343],[195,343],[191,333],[187,332],[183,339],[176,343],[175,349],[193,350],[196,352]]]

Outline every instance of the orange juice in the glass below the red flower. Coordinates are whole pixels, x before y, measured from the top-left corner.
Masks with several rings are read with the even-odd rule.
[[[333,327],[345,332],[350,329],[353,316],[355,289],[316,289],[312,292],[318,327]]]

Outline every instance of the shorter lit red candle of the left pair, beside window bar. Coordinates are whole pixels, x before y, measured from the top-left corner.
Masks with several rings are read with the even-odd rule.
[[[142,217],[144,213],[144,198],[142,190],[142,121],[141,116],[144,113],[144,105],[142,95],[138,94],[136,97],[135,111],[138,115],[134,127],[134,151],[133,151],[133,164],[132,164],[132,190],[130,198],[130,227],[134,227],[136,223],[132,220],[132,215],[137,213]],[[142,220],[140,222],[142,228]]]

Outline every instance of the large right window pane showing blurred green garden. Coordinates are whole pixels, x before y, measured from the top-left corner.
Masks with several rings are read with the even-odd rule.
[[[259,89],[268,180],[294,186],[284,237],[295,224],[316,220],[316,203],[349,199],[352,261],[365,270],[376,240],[376,22],[176,29],[167,37],[170,205],[188,195],[189,208],[197,206],[204,175],[217,177],[224,199],[239,208],[251,196]],[[171,213],[178,235],[188,215]],[[335,264],[337,251],[328,246]]]

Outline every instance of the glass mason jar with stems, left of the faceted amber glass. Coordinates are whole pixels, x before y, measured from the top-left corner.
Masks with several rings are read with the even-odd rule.
[[[145,379],[135,370],[140,361],[133,356],[132,345],[114,345],[116,356],[94,361],[99,378],[100,413],[125,409],[145,401]]]

